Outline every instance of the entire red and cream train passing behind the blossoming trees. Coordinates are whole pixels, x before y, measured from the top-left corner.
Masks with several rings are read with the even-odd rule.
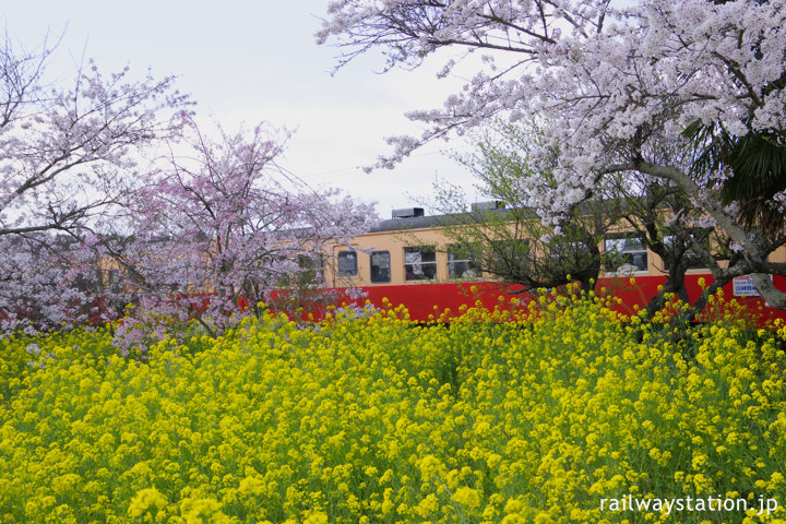
[[[505,218],[509,211],[497,201],[481,202],[473,204],[473,211],[467,215],[483,218],[497,214]],[[271,308],[302,320],[322,320],[331,310],[342,307],[359,312],[368,307],[403,306],[410,320],[428,323],[438,318],[453,319],[478,303],[495,309],[510,303],[511,298],[519,305],[536,299],[538,293],[527,291],[520,284],[507,283],[483,271],[471,255],[452,249],[451,241],[455,239],[451,230],[455,231],[454,226],[460,223],[456,217],[456,214],[427,216],[422,207],[394,210],[391,218],[356,235],[349,242],[320,242],[320,255],[302,254],[302,263],[321,274],[321,278],[307,278],[303,289],[293,290],[289,286],[275,289],[265,301],[271,302]],[[666,264],[642,239],[624,229],[612,230],[599,241],[598,251],[609,249],[621,255],[622,264],[602,272],[595,287],[619,298],[621,313],[634,314],[666,284]],[[786,263],[786,247],[771,253],[770,260]],[[119,274],[120,270],[107,261],[100,271]],[[313,288],[314,279],[323,285]],[[684,283],[690,302],[693,303],[713,281],[706,267],[689,269]],[[785,277],[774,275],[773,283],[786,291]],[[748,312],[758,325],[777,319],[786,325],[786,311],[769,307],[749,275],[734,278],[722,289],[725,298],[735,300],[738,310]],[[294,297],[294,293],[299,296]],[[175,298],[188,301],[190,310],[200,312],[215,299],[215,294],[200,289]],[[251,306],[242,295],[233,300],[241,309]],[[91,324],[100,324],[107,317],[117,314],[111,308],[104,296],[97,296],[88,303],[64,306],[68,314],[88,315]],[[24,310],[20,313],[26,314]],[[0,310],[0,323],[8,315]]]

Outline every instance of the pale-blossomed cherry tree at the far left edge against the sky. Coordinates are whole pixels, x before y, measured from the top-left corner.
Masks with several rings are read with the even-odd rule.
[[[16,51],[8,37],[0,48],[0,235],[72,230],[104,213],[190,104],[171,76],[105,76],[92,61],[71,85],[49,86],[51,52]]]

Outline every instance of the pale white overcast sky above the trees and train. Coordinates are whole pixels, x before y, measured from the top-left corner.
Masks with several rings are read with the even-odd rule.
[[[63,39],[52,69],[67,76],[81,57],[105,74],[130,66],[140,74],[176,74],[177,86],[228,131],[267,121],[295,130],[281,164],[314,188],[337,187],[378,202],[383,218],[394,207],[428,199],[436,177],[463,184],[466,170],[442,152],[465,143],[434,143],[400,167],[365,174],[391,151],[384,136],[419,134],[404,112],[441,105],[462,81],[438,81],[434,71],[377,74],[379,56],[361,57],[331,76],[338,49],[318,46],[313,33],[329,0],[5,0],[8,34],[27,48],[49,32]]]

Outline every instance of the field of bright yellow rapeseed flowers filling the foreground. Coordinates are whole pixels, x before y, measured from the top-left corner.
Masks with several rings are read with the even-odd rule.
[[[0,522],[786,522],[786,330],[664,325],[545,296],[0,341]]]

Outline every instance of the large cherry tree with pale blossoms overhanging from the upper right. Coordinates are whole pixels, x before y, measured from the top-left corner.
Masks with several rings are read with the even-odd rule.
[[[559,225],[608,176],[660,179],[688,195],[739,253],[723,266],[693,245],[715,277],[751,273],[770,305],[786,308],[786,294],[770,278],[786,275],[786,264],[767,259],[786,243],[784,227],[763,233],[740,212],[745,205],[724,198],[733,162],[711,169],[696,162],[702,140],[717,133],[686,133],[700,126],[733,142],[763,136],[785,146],[786,1],[334,0],[317,37],[344,49],[340,66],[371,49],[389,68],[418,67],[430,56],[444,60],[440,74],[478,63],[442,108],[409,114],[428,129],[391,139],[395,150],[379,166],[493,116],[537,122],[544,140],[533,167],[560,153],[555,187],[525,188],[545,223]],[[462,62],[461,55],[481,59]],[[674,159],[659,154],[666,143],[679,151]],[[782,216],[784,203],[783,190],[767,196]],[[674,226],[690,227],[683,218]]]

